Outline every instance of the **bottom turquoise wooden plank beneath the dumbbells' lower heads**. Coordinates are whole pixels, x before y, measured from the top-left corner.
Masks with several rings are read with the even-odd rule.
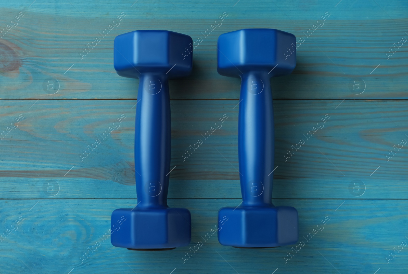
[[[38,201],[38,203],[37,203]],[[24,218],[1,245],[2,273],[404,273],[408,243],[407,200],[277,200],[299,212],[299,243],[271,249],[238,249],[222,246],[215,233],[220,207],[239,204],[238,199],[170,200],[186,207],[192,216],[192,241],[187,247],[166,252],[135,252],[113,247],[103,235],[110,228],[111,212],[133,207],[135,200],[59,199],[1,200],[2,233]],[[341,205],[339,207],[339,205]],[[34,206],[34,207],[33,207]],[[381,210],[381,212],[380,212]],[[20,217],[22,216],[22,217]],[[322,221],[324,226],[317,226]],[[320,227],[320,228],[319,228]],[[323,227],[323,228],[322,228]],[[317,229],[323,229],[317,232]],[[16,229],[14,227],[14,229]],[[313,230],[315,229],[315,230]],[[120,230],[119,230],[120,231]],[[316,232],[314,232],[316,231]],[[312,233],[312,237],[310,234]],[[316,234],[314,234],[316,233]],[[309,240],[306,236],[309,235]],[[305,238],[304,238],[305,237]],[[304,246],[299,250],[300,241]],[[96,242],[100,246],[95,249]],[[197,243],[202,247],[197,250]],[[190,249],[191,258],[184,261]],[[299,251],[288,252],[292,247]],[[89,249],[89,257],[82,261]],[[389,252],[394,248],[395,258]],[[357,259],[364,258],[364,259]],[[81,264],[83,262],[83,264]],[[279,269],[278,269],[279,268]],[[30,271],[31,270],[31,271]]]

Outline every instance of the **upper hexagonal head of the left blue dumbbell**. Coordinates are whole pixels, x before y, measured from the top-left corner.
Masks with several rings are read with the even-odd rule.
[[[143,73],[186,76],[193,68],[193,54],[187,51],[192,44],[190,36],[173,31],[131,31],[116,36],[113,65],[120,76],[129,78]]]

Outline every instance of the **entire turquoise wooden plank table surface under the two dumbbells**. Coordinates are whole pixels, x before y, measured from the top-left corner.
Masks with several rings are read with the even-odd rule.
[[[407,273],[406,2],[2,0],[0,10],[1,273]],[[240,81],[217,74],[215,46],[242,28],[298,41],[295,71],[271,80],[272,198],[299,212],[293,246],[217,241],[218,209],[241,202]],[[113,247],[108,233],[111,212],[137,204],[138,80],[113,69],[113,39],[137,29],[196,42],[193,74],[170,82],[169,203],[191,211],[192,241],[165,252]]]

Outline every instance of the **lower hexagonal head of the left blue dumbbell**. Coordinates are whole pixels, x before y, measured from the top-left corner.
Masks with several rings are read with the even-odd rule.
[[[186,246],[190,223],[190,212],[184,208],[116,209],[111,217],[111,243],[136,250]]]

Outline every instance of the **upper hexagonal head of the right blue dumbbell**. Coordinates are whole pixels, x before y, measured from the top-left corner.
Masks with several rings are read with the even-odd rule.
[[[270,76],[280,76],[290,74],[296,66],[296,37],[277,29],[224,33],[218,38],[217,48],[217,71],[224,76],[239,77],[249,71],[270,71]]]

